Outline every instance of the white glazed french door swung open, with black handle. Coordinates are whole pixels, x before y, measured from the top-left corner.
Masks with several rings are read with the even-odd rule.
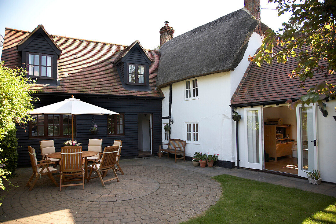
[[[318,169],[315,105],[310,104],[305,109],[298,105],[296,107],[296,120],[298,175],[307,177],[305,171]]]

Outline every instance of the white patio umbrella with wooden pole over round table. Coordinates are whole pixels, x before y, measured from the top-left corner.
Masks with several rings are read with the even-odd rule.
[[[118,114],[111,110],[107,110],[95,105],[85,103],[80,99],[75,99],[72,96],[70,99],[65,99],[64,101],[50,104],[48,106],[36,108],[29,114],[71,114],[71,124],[72,124],[72,141],[74,141],[74,115],[75,114]]]

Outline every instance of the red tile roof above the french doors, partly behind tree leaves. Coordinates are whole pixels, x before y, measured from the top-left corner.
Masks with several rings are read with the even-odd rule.
[[[280,48],[280,45],[276,46],[274,51],[278,51]],[[307,49],[309,48],[307,47]],[[328,66],[327,61],[321,60],[320,63],[321,65]],[[277,63],[275,59],[273,60],[273,66],[269,66],[264,62],[261,67],[258,67],[255,63],[251,63],[231,98],[231,104],[243,105],[298,99],[306,94],[307,90],[315,84],[325,80],[324,74],[316,73],[313,78],[306,79],[304,83],[305,88],[299,87],[300,80],[298,78],[291,79],[288,76],[296,68],[296,65],[297,61],[292,57],[289,58],[286,64]],[[327,81],[328,83],[335,83],[336,75],[329,74]]]

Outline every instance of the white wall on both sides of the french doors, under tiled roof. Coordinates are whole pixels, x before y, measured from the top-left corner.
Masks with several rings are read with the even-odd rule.
[[[317,158],[318,158],[318,169],[322,173],[321,177],[323,181],[336,183],[336,121],[333,116],[336,115],[335,107],[336,100],[326,102],[326,110],[328,111],[328,116],[323,117],[322,112],[316,106],[316,131],[317,131]],[[257,107],[253,107],[257,108]],[[242,115],[239,121],[239,165],[241,167],[246,166],[246,145],[245,145],[245,123],[244,123],[244,108],[238,108],[238,113]],[[265,121],[264,121],[265,122]],[[234,130],[236,131],[236,130]],[[235,138],[235,137],[234,137]],[[236,140],[235,140],[236,141]],[[235,147],[235,146],[234,146]],[[236,155],[235,155],[236,156]],[[237,164],[236,164],[237,165]]]

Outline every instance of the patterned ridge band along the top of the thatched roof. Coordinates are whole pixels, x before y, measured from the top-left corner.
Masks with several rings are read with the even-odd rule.
[[[199,32],[203,32],[203,31],[207,30],[208,28],[212,28],[212,27],[217,26],[221,23],[224,23],[224,22],[226,22],[227,19],[230,19],[232,17],[236,17],[238,14],[240,15],[239,11],[246,11],[246,10],[244,10],[244,8],[241,8],[241,9],[238,9],[234,12],[230,12],[229,14],[223,15],[222,17],[219,17],[212,22],[206,23],[206,24],[201,25],[199,27],[196,27],[196,28],[194,28],[194,29],[192,29],[188,32],[185,32],[181,35],[178,35],[177,37],[174,37],[173,39],[167,41],[165,44],[167,44],[167,45],[175,44],[175,43],[177,43],[177,42],[179,42],[179,41],[181,41],[181,40],[183,40],[183,39],[185,39],[189,36],[195,35]],[[221,21],[223,19],[225,19],[225,21]],[[196,32],[196,31],[198,31],[198,32]]]

